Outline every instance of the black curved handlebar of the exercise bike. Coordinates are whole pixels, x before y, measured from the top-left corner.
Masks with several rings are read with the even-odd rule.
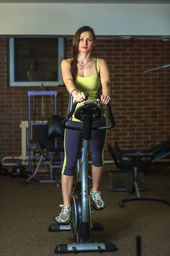
[[[86,96],[86,98],[88,98],[88,93],[86,93],[85,96]],[[68,120],[74,114],[74,111],[76,110],[77,103],[78,103],[77,101],[75,101],[73,103],[71,111],[65,116],[65,119],[61,123],[61,125],[64,126],[66,129],[83,130],[83,127],[74,127],[74,126],[70,126],[70,125],[65,125],[66,122],[68,122]],[[107,109],[108,109],[108,115],[109,115],[109,119],[111,121],[111,125],[102,126],[102,127],[92,127],[92,130],[106,130],[106,129],[111,129],[115,126],[114,117],[113,117],[113,114],[111,111],[111,106],[109,104],[107,105]]]

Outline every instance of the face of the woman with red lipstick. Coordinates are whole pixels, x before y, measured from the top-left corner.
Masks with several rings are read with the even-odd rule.
[[[90,31],[83,32],[79,38],[79,52],[91,52],[96,44]]]

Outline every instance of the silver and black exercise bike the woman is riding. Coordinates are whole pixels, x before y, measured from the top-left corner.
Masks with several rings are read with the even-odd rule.
[[[88,94],[85,94],[88,97]],[[74,102],[71,112],[68,113],[62,121],[62,125],[66,129],[82,130],[82,157],[81,166],[78,159],[77,163],[77,182],[75,183],[74,192],[71,194],[71,222],[62,225],[58,222],[58,217],[54,217],[55,224],[51,224],[48,228],[50,232],[59,232],[60,230],[71,230],[77,243],[74,244],[59,244],[54,252],[57,254],[77,253],[78,251],[102,251],[114,252],[117,247],[113,242],[107,243],[92,243],[91,230],[102,230],[101,223],[91,223],[91,213],[96,209],[91,205],[91,200],[88,194],[88,151],[90,148],[91,131],[101,129],[111,129],[115,126],[114,118],[111,112],[111,106],[108,104],[108,115],[111,125],[103,127],[93,127],[93,121],[102,117],[102,108],[96,102],[84,102],[75,111],[77,102]],[[75,113],[74,113],[75,111]],[[68,119],[73,115],[75,118],[83,122],[82,127],[73,127],[65,125]],[[104,202],[105,207],[107,201]],[[97,210],[97,209],[96,209]]]

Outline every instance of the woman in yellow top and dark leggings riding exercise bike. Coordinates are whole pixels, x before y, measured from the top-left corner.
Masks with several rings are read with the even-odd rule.
[[[110,102],[110,73],[104,59],[94,58],[91,51],[96,44],[94,30],[89,26],[83,26],[77,30],[72,42],[72,58],[65,59],[61,63],[62,79],[69,93],[68,112],[74,101],[81,104],[84,101],[96,102],[100,84],[102,84],[101,104],[107,105]],[[85,94],[89,97],[86,98]],[[79,107],[77,104],[77,107]],[[93,126],[107,125],[105,114],[93,122]],[[82,122],[72,116],[68,125],[82,126]],[[92,131],[91,134],[91,158],[92,158],[92,189],[91,199],[96,208],[102,209],[104,202],[99,191],[99,183],[103,172],[103,156],[107,130]],[[63,204],[59,214],[59,222],[62,224],[70,221],[71,206],[70,198],[73,186],[74,170],[76,169],[79,148],[82,139],[82,131],[65,129],[65,158],[62,169],[62,197]]]

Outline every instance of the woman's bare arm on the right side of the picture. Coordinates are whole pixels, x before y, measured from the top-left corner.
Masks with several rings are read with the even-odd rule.
[[[108,102],[110,102],[110,95],[111,95],[111,79],[110,79],[110,73],[108,69],[108,65],[105,60],[99,59],[100,61],[100,78],[101,78],[101,84],[102,84],[102,96],[100,99],[100,102],[102,104],[107,105]]]

